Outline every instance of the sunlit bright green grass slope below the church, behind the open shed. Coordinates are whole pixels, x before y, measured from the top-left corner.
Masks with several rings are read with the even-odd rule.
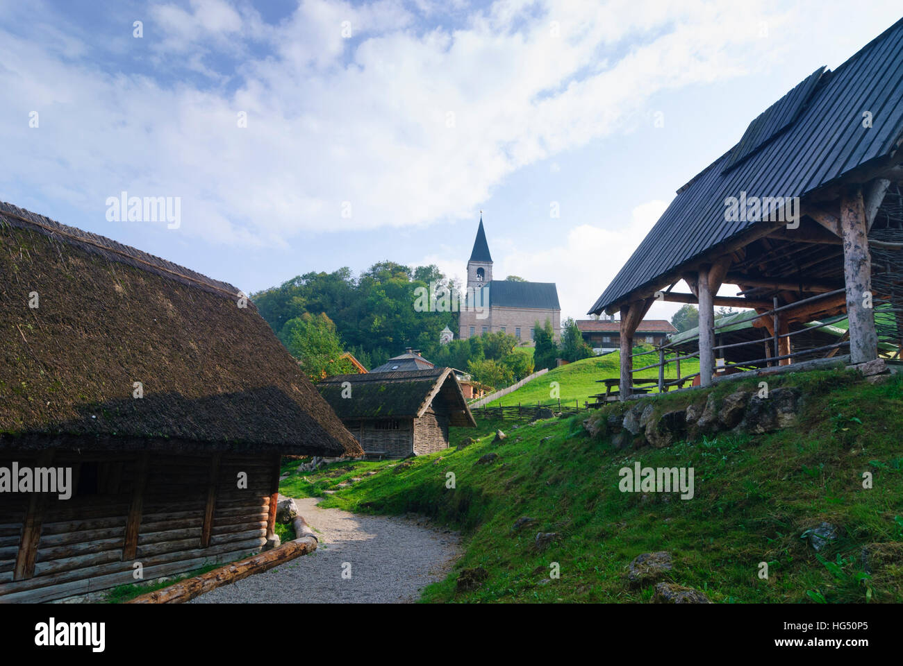
[[[643,348],[646,347],[638,347],[638,349]],[[644,367],[653,363],[658,363],[656,352],[636,356],[633,359],[634,367]],[[550,384],[552,382],[558,382],[559,384],[562,404],[573,406],[576,400],[582,406],[583,402],[590,395],[605,391],[605,385],[600,384],[597,380],[618,377],[620,375],[619,367],[620,352],[584,358],[582,361],[575,361],[568,365],[552,368],[545,375],[536,377],[532,382],[524,384],[517,391],[489,402],[487,406],[498,407],[499,404],[516,405],[518,402],[522,404],[536,404],[536,402],[548,405],[557,404],[557,399],[550,397]],[[693,375],[696,372],[699,372],[699,361],[697,359],[692,358],[681,361],[681,375]],[[667,366],[665,376],[666,379],[677,378],[674,364]],[[657,379],[658,368],[634,373],[634,377],[639,379]]]

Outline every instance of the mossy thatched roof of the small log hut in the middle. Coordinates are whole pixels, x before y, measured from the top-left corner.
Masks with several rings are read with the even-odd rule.
[[[343,386],[348,382],[350,386]],[[461,385],[450,367],[367,375],[335,375],[317,384],[321,395],[343,421],[380,418],[420,418],[441,401],[453,426],[474,427]],[[349,393],[350,397],[343,397]]]

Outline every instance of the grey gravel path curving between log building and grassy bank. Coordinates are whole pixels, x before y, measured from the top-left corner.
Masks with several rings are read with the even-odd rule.
[[[460,554],[458,535],[421,519],[321,509],[296,499],[320,545],[262,574],[219,587],[191,604],[410,603],[445,578]],[[350,564],[350,578],[342,571]]]

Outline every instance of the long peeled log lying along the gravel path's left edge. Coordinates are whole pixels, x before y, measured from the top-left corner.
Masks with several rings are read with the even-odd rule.
[[[302,519],[303,522],[303,519]],[[303,527],[306,528],[307,523]],[[295,525],[295,532],[298,531],[298,525]],[[302,529],[302,532],[304,530]],[[312,532],[307,528],[307,532]],[[304,533],[304,536],[288,541],[273,550],[267,550],[245,560],[238,560],[227,564],[225,567],[214,569],[200,576],[188,578],[181,582],[163,587],[155,592],[135,597],[129,604],[183,604],[190,601],[194,597],[198,597],[211,589],[234,583],[242,578],[253,576],[257,573],[263,573],[269,569],[284,564],[287,561],[294,560],[301,555],[317,550],[317,539],[311,534]],[[301,599],[299,599],[300,601]]]

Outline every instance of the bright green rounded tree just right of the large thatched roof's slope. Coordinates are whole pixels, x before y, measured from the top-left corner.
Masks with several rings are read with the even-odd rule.
[[[355,372],[354,365],[341,357],[344,352],[336,325],[322,312],[316,317],[305,312],[301,317],[287,321],[283,328],[283,344],[301,361],[303,373],[312,382],[330,375]]]

